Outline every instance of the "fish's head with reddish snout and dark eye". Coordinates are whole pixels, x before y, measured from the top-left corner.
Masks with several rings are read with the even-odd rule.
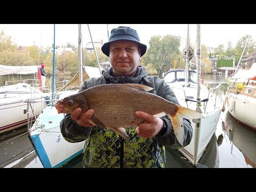
[[[72,113],[78,107],[80,107],[83,111],[84,108],[86,108],[86,107],[83,107],[83,106],[87,106],[87,102],[83,97],[80,97],[79,95],[70,95],[70,96],[68,96],[68,97],[66,97],[66,98],[64,98],[60,101],[57,101],[54,104],[54,107],[58,110],[58,114],[60,114],[60,113],[65,113],[65,114]],[[86,109],[89,110],[88,107]]]

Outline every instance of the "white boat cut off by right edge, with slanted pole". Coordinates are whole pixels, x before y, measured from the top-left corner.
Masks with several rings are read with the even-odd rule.
[[[249,38],[244,46],[244,50]],[[237,69],[241,58],[237,64]],[[252,64],[249,70],[236,70],[235,75],[229,79],[227,106],[229,113],[237,119],[237,121],[256,130],[256,115],[253,113],[256,107],[256,62]]]

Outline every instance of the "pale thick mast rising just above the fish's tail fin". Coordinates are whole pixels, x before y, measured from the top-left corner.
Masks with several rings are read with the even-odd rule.
[[[196,73],[197,73],[197,110],[199,113],[202,113],[201,108],[201,101],[200,101],[200,84],[201,84],[201,25],[196,25]]]

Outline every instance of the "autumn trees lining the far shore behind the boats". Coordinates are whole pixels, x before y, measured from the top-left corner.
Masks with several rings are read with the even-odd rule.
[[[220,57],[235,57],[236,62],[239,61],[244,46],[246,44],[246,35],[239,39],[235,48],[232,46],[231,42],[228,42],[228,47],[225,50],[222,44],[218,45],[214,49],[214,55],[219,55]],[[149,46],[146,54],[141,58],[140,65],[144,66],[150,75],[156,75],[161,77],[163,72],[170,70],[170,68],[184,68],[185,61],[183,61],[183,52],[180,51],[181,37],[176,35],[166,35],[166,36],[152,36],[149,40]],[[55,47],[60,47],[55,45]],[[63,45],[62,45],[63,47]],[[65,47],[73,47],[70,43],[67,43]],[[252,38],[250,38],[245,53],[254,52],[255,43]],[[35,44],[29,47],[25,47],[25,51],[18,50],[18,46],[12,42],[10,36],[6,36],[5,32],[2,30],[0,33],[0,64],[1,65],[11,65],[11,66],[22,66],[22,65],[37,65],[38,63],[45,63],[45,70],[47,74],[52,73],[52,63],[53,54],[49,52],[50,47],[47,47],[48,51],[43,52]],[[74,50],[74,49],[73,49]],[[109,58],[102,53],[100,47],[96,47],[99,61],[105,62],[109,61]],[[210,55],[210,54],[209,54]],[[206,64],[204,71],[211,70],[211,61],[207,58],[206,46],[202,44],[201,46],[201,58]],[[211,56],[211,55],[210,55]],[[222,63],[223,64],[223,61]],[[95,53],[87,53],[83,49],[83,65],[98,67]],[[65,52],[60,55],[55,55],[55,69],[63,72],[76,73],[78,70],[78,51]],[[208,70],[209,69],[209,70]]]

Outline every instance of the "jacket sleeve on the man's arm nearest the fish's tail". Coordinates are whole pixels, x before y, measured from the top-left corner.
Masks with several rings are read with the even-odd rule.
[[[171,90],[170,86],[167,85],[163,79],[155,77],[154,79],[156,94],[160,97],[169,100],[171,102],[179,104],[174,92]],[[175,137],[174,130],[172,128],[171,119],[168,115],[161,117],[164,126],[163,129],[156,135],[155,139],[161,143],[161,145],[167,148],[181,148],[189,145],[192,136],[193,128],[189,119],[183,119],[184,128],[184,143],[183,146],[180,145],[179,141]]]

